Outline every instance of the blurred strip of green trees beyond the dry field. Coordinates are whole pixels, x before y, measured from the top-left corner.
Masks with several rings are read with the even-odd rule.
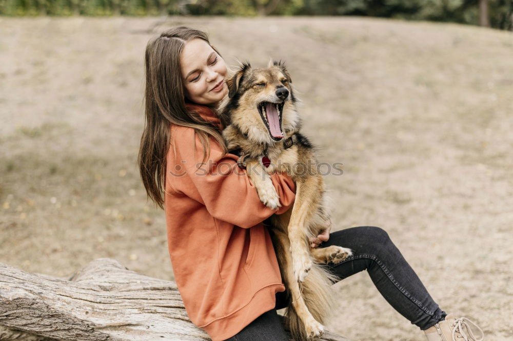
[[[0,15],[360,15],[512,30],[513,0],[0,0]]]

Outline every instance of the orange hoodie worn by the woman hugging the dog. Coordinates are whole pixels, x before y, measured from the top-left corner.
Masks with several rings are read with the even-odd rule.
[[[208,107],[188,109],[221,129]],[[196,170],[203,158],[199,137],[188,127],[170,130],[165,212],[176,285],[191,321],[221,341],[274,308],[275,293],[285,290],[262,222],[292,206],[295,184],[286,173],[272,174],[282,207],[270,209],[237,166],[236,155],[224,154],[210,138],[209,162]]]

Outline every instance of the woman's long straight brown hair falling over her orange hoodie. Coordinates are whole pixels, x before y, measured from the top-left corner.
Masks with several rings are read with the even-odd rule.
[[[203,146],[203,161],[209,156],[210,137],[213,137],[227,152],[219,129],[200,116],[198,111],[202,110],[203,106],[197,105],[198,110],[190,111],[186,107],[180,54],[185,43],[193,38],[203,39],[210,45],[205,32],[186,26],[166,30],[160,36],[151,38],[146,45],[144,95],[146,122],[137,164],[148,197],[162,209],[164,209],[166,156],[171,138],[170,124],[194,129]],[[211,47],[221,55],[218,50]],[[203,107],[203,109],[208,108]]]

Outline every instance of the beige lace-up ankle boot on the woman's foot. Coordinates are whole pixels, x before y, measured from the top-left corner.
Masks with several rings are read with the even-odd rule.
[[[480,338],[476,338],[470,330],[470,324],[475,326],[481,333]],[[454,318],[452,315],[445,316],[435,326],[424,330],[427,341],[483,341],[484,333],[478,325],[466,317]]]

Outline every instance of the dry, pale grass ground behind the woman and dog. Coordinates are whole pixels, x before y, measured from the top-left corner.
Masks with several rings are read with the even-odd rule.
[[[326,162],[335,229],[383,227],[449,312],[513,337],[513,35],[330,18],[0,18],[0,262],[71,274],[97,257],[172,279],[164,213],[135,159],[143,53],[156,32],[210,32],[226,61],[284,58]],[[366,272],[336,285],[329,327],[423,340]]]

